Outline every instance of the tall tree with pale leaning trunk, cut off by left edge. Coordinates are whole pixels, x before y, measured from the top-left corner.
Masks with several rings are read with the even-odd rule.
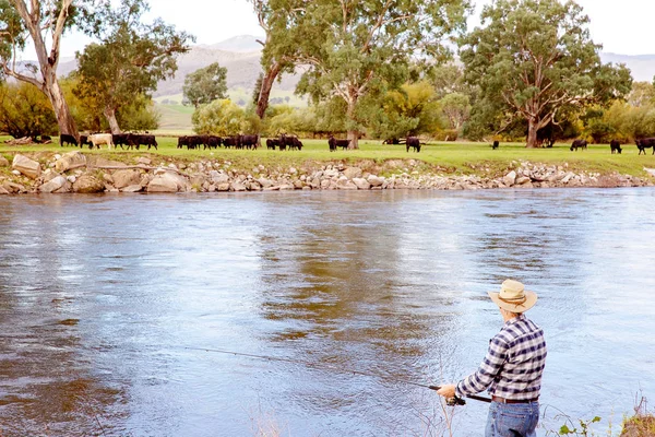
[[[0,0],[0,68],[3,74],[40,90],[50,101],[59,131],[78,135],[75,121],[57,80],[61,36],[74,24],[80,8],[72,3],[73,0],[32,0],[28,5],[24,0]],[[34,44],[38,60],[38,67],[27,66],[32,74],[22,70],[16,59],[28,39]]]

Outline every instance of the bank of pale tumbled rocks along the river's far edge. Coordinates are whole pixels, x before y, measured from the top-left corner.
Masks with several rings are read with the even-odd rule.
[[[474,175],[449,174],[415,160],[313,163],[299,167],[236,168],[226,160],[175,162],[163,156],[109,161],[73,151],[47,156],[0,156],[0,194],[66,192],[221,192],[276,190],[476,190],[498,188],[643,187],[655,184],[655,170],[643,177],[569,170],[567,163],[512,162],[501,174],[484,164]]]

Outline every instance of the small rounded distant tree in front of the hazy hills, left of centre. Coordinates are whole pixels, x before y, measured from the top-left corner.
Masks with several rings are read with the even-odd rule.
[[[216,98],[227,97],[227,69],[214,62],[205,68],[195,70],[184,78],[182,87],[183,105],[191,104],[198,109]]]

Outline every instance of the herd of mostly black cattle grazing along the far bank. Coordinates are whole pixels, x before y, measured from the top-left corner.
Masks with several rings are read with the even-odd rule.
[[[147,145],[147,149],[155,147],[157,149],[157,140],[155,135],[150,133],[93,133],[90,135],[80,135],[80,140],[78,140],[74,135],[61,134],[59,137],[59,144],[61,146],[64,145],[74,145],[83,147],[84,145],[88,145],[88,149],[100,149],[100,145],[107,144],[107,147],[117,147],[120,146],[123,149],[123,145],[130,149],[139,150],[140,146]],[[417,137],[407,137],[406,139],[397,139],[392,138],[384,140],[383,144],[405,144],[407,152],[412,149],[414,152],[420,152],[420,140]],[[635,140],[636,147],[639,149],[639,154],[646,154],[646,149],[653,149],[652,155],[655,155],[655,138],[644,138]],[[234,137],[216,137],[216,135],[183,135],[178,138],[178,149],[187,147],[199,149],[202,146],[205,149],[217,149],[219,146],[225,146],[226,149],[249,149],[255,150],[260,147],[260,137],[259,135],[234,135]],[[500,143],[498,141],[493,141],[491,145],[492,149],[498,149]],[[330,135],[327,139],[327,146],[330,152],[336,152],[338,147],[342,150],[347,150],[350,146],[350,140],[337,140],[333,135]],[[623,149],[621,149],[621,143],[617,140],[611,140],[609,143],[611,153],[621,153]],[[266,149],[269,150],[302,150],[302,142],[296,135],[286,135],[281,134],[277,138],[270,138],[266,140]],[[586,140],[574,140],[571,144],[570,150],[586,150],[587,142]]]

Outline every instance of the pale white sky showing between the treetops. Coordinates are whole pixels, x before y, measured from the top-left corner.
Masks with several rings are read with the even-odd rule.
[[[474,0],[478,23],[484,4],[491,0]],[[196,44],[216,44],[239,35],[262,35],[252,4],[247,0],[151,0],[148,20],[162,17],[178,31],[196,37]],[[621,55],[655,55],[653,33],[655,0],[577,0],[591,19],[590,31],[603,51]],[[62,55],[73,56],[88,39],[71,34],[62,42]]]

